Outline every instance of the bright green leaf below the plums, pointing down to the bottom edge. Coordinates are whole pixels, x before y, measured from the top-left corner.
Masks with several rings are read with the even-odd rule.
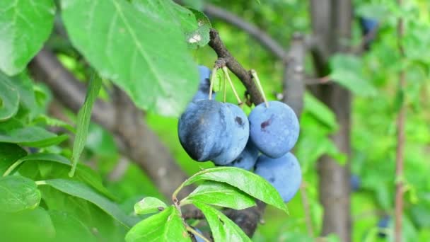
[[[202,210],[215,242],[221,241],[251,241],[237,224],[228,219],[226,215],[206,204],[194,202],[194,205]]]

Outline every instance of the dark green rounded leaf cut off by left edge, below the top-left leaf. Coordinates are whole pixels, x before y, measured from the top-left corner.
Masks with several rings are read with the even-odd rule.
[[[1,40],[0,40],[0,43],[1,43]],[[10,81],[8,80],[8,77],[4,76],[4,74],[0,72],[0,121],[7,120],[13,117],[14,115],[16,115],[16,113],[18,112],[18,108],[19,108],[18,90],[16,89],[15,86],[11,85]]]

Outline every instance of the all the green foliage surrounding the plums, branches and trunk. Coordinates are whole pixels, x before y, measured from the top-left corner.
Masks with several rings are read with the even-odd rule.
[[[204,6],[204,1],[186,2],[200,10]],[[288,43],[296,31],[310,33],[308,1],[214,2],[257,24],[281,43]],[[386,214],[393,217],[397,179],[404,180],[407,188],[405,241],[429,241],[430,178],[425,174],[430,173],[426,160],[430,117],[425,111],[429,109],[426,100],[430,94],[430,5],[414,0],[399,9],[394,1],[369,0],[355,1],[354,7],[356,17],[378,18],[380,27],[371,50],[363,56],[336,55],[330,62],[330,77],[355,95],[350,161],[351,172],[361,178],[361,188],[352,194],[353,241],[382,239],[378,238],[377,224]],[[61,16],[58,21],[64,23],[69,40],[52,31],[56,15]],[[394,38],[400,16],[406,23],[402,40],[405,59],[400,59]],[[2,241],[134,241],[149,238],[145,237],[150,236],[146,234],[149,229],[157,229],[158,238],[189,240],[187,231],[192,231],[198,221],[182,222],[182,205],[186,204],[194,204],[204,212],[210,226],[206,231],[211,230],[216,240],[247,240],[218,208],[251,207],[255,197],[274,206],[267,209],[266,224],[259,226],[254,241],[312,240],[303,219],[301,196],[289,202],[289,216],[279,213],[275,208],[285,209],[284,204],[279,203],[277,192],[264,180],[235,168],[210,168],[208,163],[196,166],[180,147],[175,116],[197,89],[194,63],[210,67],[216,59],[206,46],[211,25],[219,30],[228,49],[244,67],[259,71],[267,93],[281,92],[279,80],[284,65],[247,34],[214,19],[211,22],[203,13],[173,1],[0,1]],[[347,44],[356,46],[361,42],[358,21],[353,30],[353,38]],[[75,130],[70,123],[47,116],[52,94],[26,71],[44,44],[55,50],[80,79],[89,79],[89,64],[97,72],[97,79],[112,81],[136,105],[147,110],[151,129],[181,167],[190,175],[195,173],[183,185],[199,180],[197,188],[179,203],[173,200],[173,205],[168,205],[134,163],[129,163],[118,180],[110,179],[110,171],[120,160],[112,134],[93,123],[89,128],[88,124],[78,125]],[[408,80],[402,92],[397,91],[400,69],[407,70]],[[311,70],[309,60],[306,70]],[[110,83],[101,88],[100,97],[106,98],[108,86]],[[240,87],[239,93],[243,91]],[[322,226],[315,168],[318,158],[329,155],[345,163],[347,155],[340,153],[329,138],[339,129],[335,115],[310,93],[306,93],[304,101],[301,136],[294,151],[301,162],[316,234]],[[401,104],[407,105],[405,177],[395,178],[395,115]],[[66,117],[75,123],[81,120],[71,113]],[[52,127],[61,127],[62,132],[52,132]],[[75,139],[76,144],[85,147],[81,156],[74,156],[76,160],[80,157],[80,163],[71,178],[71,155],[81,150],[71,150],[69,136],[85,133],[87,128],[87,141],[86,135]],[[202,168],[205,169],[201,171]],[[218,173],[221,176],[215,175]],[[239,181],[238,177],[246,179]],[[249,186],[243,187],[244,184]],[[149,212],[158,213],[149,217]],[[385,230],[390,239],[393,223]],[[335,236],[328,238],[335,241]]]

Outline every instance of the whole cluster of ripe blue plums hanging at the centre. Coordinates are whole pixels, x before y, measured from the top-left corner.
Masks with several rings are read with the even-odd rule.
[[[288,202],[301,185],[301,168],[290,153],[297,142],[298,119],[285,103],[255,106],[247,117],[232,103],[209,100],[210,75],[199,66],[199,90],[178,122],[180,144],[195,161],[254,170]],[[214,96],[215,94],[212,94]]]

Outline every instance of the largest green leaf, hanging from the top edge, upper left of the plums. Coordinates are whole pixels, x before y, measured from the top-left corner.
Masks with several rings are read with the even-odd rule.
[[[197,68],[175,16],[143,14],[153,9],[151,1],[139,6],[119,0],[64,0],[62,17],[74,46],[136,105],[179,115],[197,86]]]

